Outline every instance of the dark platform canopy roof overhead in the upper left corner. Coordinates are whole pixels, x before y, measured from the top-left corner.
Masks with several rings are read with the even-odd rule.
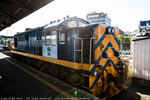
[[[54,0],[0,0],[0,31]]]

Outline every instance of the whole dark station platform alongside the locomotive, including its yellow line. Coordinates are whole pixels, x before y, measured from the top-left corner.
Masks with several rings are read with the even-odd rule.
[[[2,49],[0,49],[2,51]],[[88,92],[42,73],[0,52],[0,99],[99,100]]]

